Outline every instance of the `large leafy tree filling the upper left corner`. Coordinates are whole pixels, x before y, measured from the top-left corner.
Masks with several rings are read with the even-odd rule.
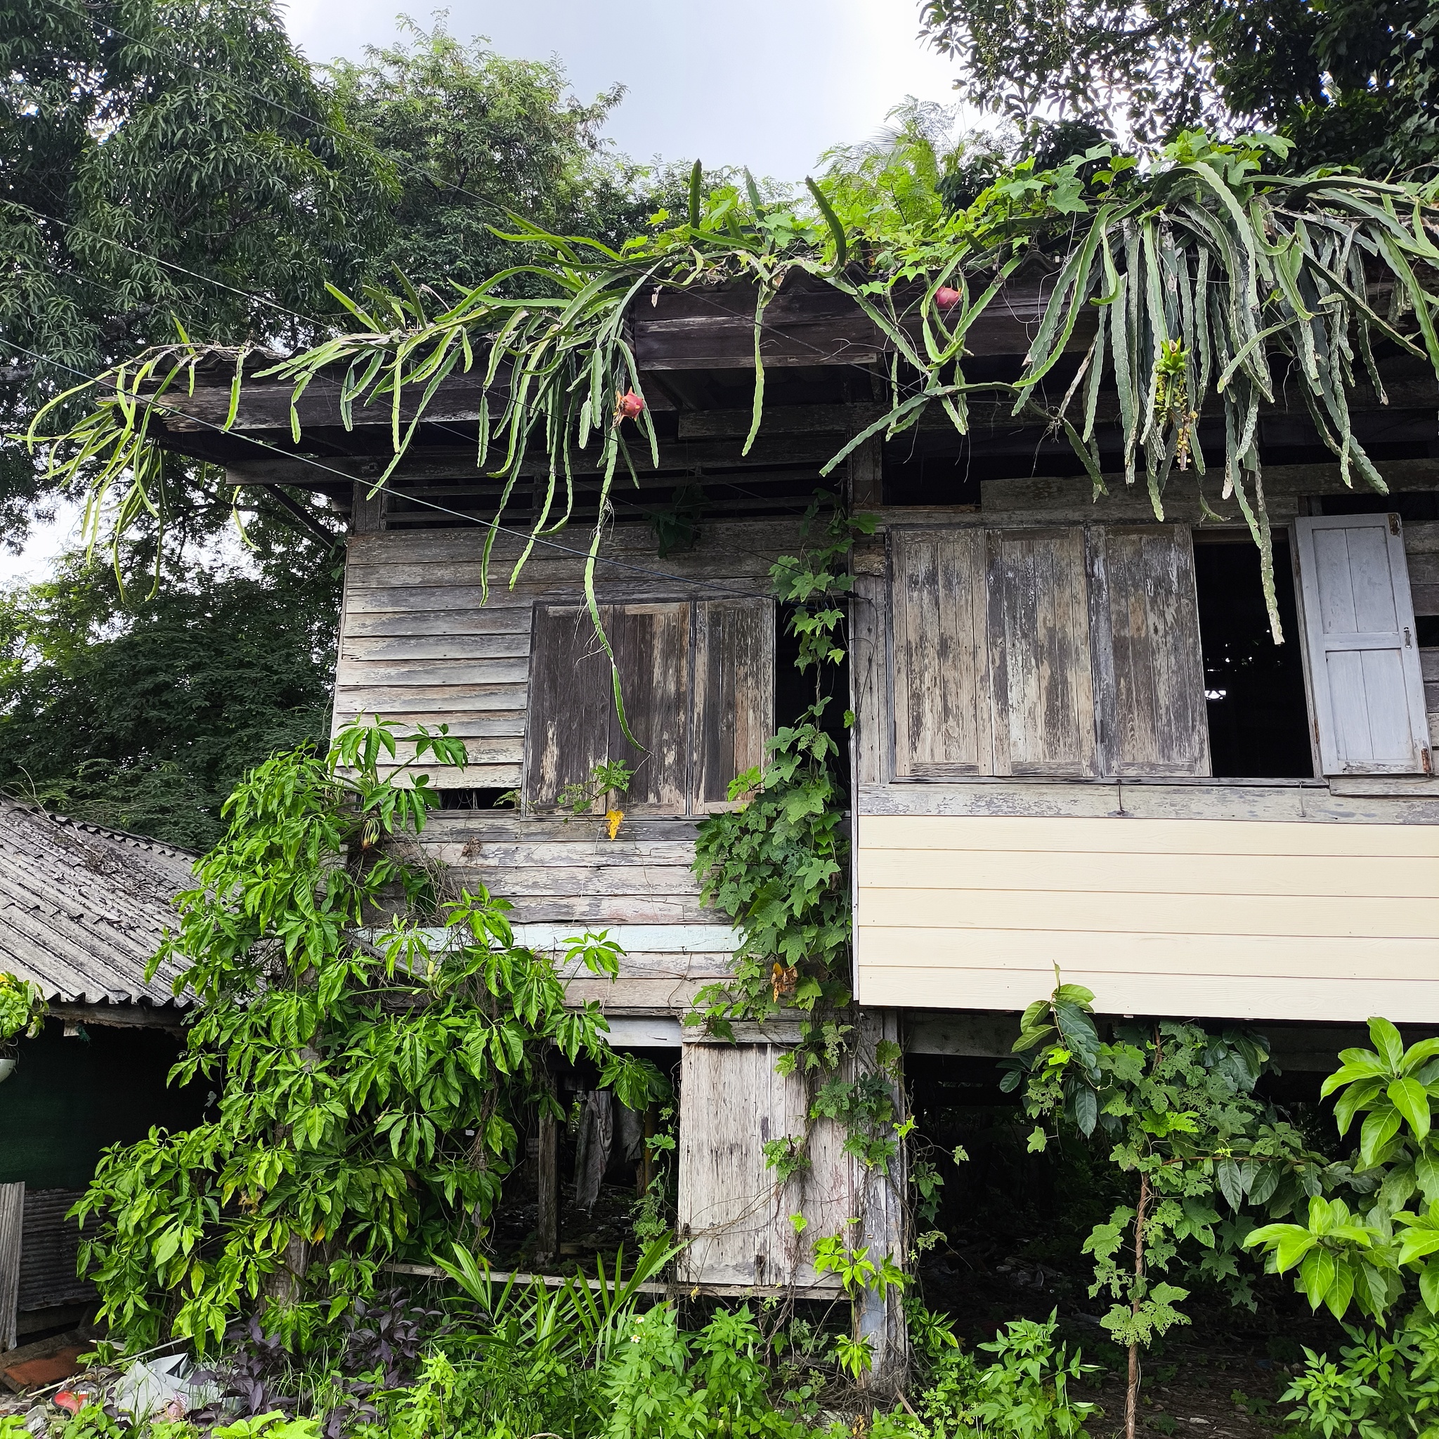
[[[393,164],[272,0],[3,0],[0,76],[0,430],[177,322],[308,342],[368,272]],[[0,453],[13,535],[36,476]]]

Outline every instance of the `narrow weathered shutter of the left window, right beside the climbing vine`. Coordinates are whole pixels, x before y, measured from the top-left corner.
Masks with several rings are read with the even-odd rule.
[[[774,732],[774,602],[695,604],[691,803],[727,809],[730,781],[764,761]]]

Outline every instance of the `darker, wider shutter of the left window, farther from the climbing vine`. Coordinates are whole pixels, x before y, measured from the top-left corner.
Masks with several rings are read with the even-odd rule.
[[[609,656],[584,606],[535,606],[531,632],[525,796],[551,809],[566,784],[602,760],[635,768],[625,810],[684,814],[689,774],[689,606],[602,604],[625,715],[614,709]]]

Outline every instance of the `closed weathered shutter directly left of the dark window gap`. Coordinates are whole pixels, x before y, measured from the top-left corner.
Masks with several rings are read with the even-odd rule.
[[[1097,525],[1088,547],[1102,773],[1209,774],[1189,527]]]

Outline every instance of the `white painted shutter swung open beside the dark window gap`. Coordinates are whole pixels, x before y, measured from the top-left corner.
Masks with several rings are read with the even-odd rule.
[[[1399,515],[1295,521],[1325,774],[1429,774],[1425,686]]]

